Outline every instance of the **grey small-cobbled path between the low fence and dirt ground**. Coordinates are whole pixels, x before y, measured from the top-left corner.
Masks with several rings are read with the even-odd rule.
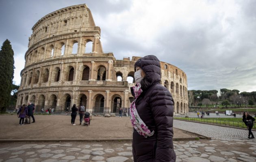
[[[174,127],[212,137],[213,139],[246,139],[248,130],[174,120]],[[256,131],[252,131],[256,135]]]

